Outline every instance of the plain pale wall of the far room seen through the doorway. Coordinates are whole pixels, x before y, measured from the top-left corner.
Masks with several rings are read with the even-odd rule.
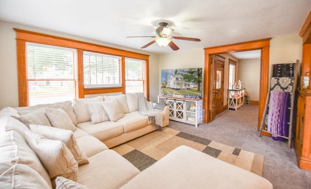
[[[243,82],[250,100],[259,101],[260,58],[240,59],[237,80]]]

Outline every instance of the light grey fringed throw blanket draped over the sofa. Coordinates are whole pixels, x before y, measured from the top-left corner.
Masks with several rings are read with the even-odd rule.
[[[144,93],[137,92],[138,95],[138,111],[140,115],[148,116],[148,120],[152,120],[154,126],[157,126],[159,131],[162,131],[163,120],[161,113],[156,111],[152,105],[152,102],[148,102]]]

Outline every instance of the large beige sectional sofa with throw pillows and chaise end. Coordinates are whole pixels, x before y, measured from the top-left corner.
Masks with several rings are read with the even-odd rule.
[[[72,105],[62,102],[0,110],[1,188],[273,188],[268,180],[252,172],[186,146],[176,148],[140,172],[108,149],[156,129],[137,112],[135,98],[133,101],[130,95],[135,97],[95,97],[75,99]],[[120,107],[124,97],[128,113],[124,106]],[[95,103],[95,110],[99,107],[96,105],[104,103],[103,99],[112,101],[122,113],[125,111],[124,116],[94,123],[103,120],[103,115],[94,119],[96,115],[87,108]],[[166,108],[160,111],[163,126],[168,124]],[[44,121],[48,126],[36,124]],[[125,126],[120,129],[120,125]]]

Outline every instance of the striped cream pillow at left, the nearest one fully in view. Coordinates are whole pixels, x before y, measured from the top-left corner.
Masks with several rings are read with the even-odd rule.
[[[77,181],[78,163],[64,142],[51,140],[30,131],[25,131],[25,136],[28,145],[35,151],[52,180],[57,176],[63,176]]]

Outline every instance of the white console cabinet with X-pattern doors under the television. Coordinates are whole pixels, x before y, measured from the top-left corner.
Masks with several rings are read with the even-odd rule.
[[[158,96],[158,103],[170,106],[170,120],[190,123],[198,127],[203,122],[202,99],[182,99]]]

